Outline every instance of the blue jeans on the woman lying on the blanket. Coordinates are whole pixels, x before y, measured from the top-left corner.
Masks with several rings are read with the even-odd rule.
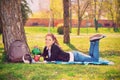
[[[72,51],[76,62],[98,62],[99,60],[99,41],[90,42],[89,55],[79,51]]]

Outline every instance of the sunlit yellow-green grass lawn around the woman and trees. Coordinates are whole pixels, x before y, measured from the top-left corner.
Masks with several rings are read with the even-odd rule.
[[[81,29],[80,36],[76,35],[77,29],[72,29],[71,43],[63,43],[63,35],[58,35],[56,28],[50,31],[57,37],[60,46],[65,51],[79,50],[88,53],[89,37],[95,34],[93,28]],[[44,37],[48,28],[25,27],[27,42],[30,50],[38,45],[44,47]],[[63,65],[63,64],[24,64],[0,62],[0,80],[119,80],[120,79],[120,33],[112,29],[100,28],[98,33],[107,37],[100,41],[100,55],[102,58],[113,61],[110,65]],[[3,53],[2,36],[0,35],[0,61]]]

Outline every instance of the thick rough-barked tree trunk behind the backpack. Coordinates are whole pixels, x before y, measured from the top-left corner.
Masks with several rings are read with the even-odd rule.
[[[0,16],[5,53],[8,53],[10,44],[15,40],[22,40],[27,45],[21,14],[21,0],[1,0]]]

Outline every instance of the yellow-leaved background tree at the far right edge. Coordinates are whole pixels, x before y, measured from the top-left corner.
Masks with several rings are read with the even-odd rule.
[[[102,13],[106,14],[104,17],[106,17],[108,20],[113,21],[113,30],[117,31],[119,27],[119,18],[120,18],[120,6],[119,6],[120,0],[104,0],[103,5],[104,8],[102,9]],[[118,19],[118,20],[117,20]]]

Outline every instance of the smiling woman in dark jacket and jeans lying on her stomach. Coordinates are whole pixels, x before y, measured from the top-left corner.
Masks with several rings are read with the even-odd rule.
[[[75,62],[98,62],[99,61],[99,40],[104,38],[102,34],[90,37],[89,55],[79,51],[64,52],[58,44],[56,37],[49,33],[45,37],[45,48],[43,56],[45,61],[75,61]]]

